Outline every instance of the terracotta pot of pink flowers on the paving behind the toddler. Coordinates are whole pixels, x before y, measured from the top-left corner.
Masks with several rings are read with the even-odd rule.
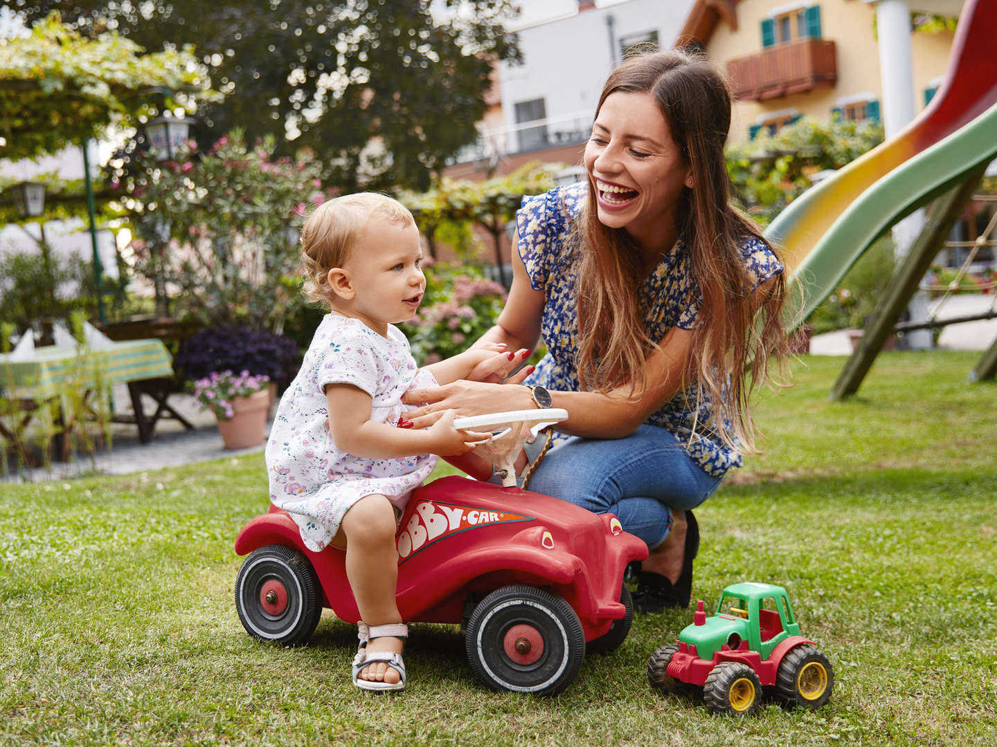
[[[269,386],[265,374],[215,371],[194,381],[193,396],[201,409],[214,412],[225,448],[242,449],[263,442]]]

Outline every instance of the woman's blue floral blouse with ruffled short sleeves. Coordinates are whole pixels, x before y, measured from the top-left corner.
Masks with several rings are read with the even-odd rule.
[[[530,287],[543,291],[546,302],[540,334],[547,354],[525,383],[538,383],[555,391],[577,391],[581,387],[575,368],[577,311],[574,289],[577,247],[569,235],[588,194],[585,183],[557,187],[545,194],[522,198],[516,213],[518,251],[529,276]],[[759,285],[783,271],[769,246],[751,237],[741,245],[749,273]],[[692,278],[689,255],[680,238],[644,283],[647,316],[644,329],[651,340],[661,340],[669,329],[693,329],[699,315],[700,296]],[[696,411],[696,387],[680,391],[645,422],[667,428],[684,445],[703,470],[722,477],[741,466],[741,453],[726,446],[713,431],[713,404],[705,392]],[[695,425],[695,430],[694,430]],[[567,436],[555,434],[554,443]]]

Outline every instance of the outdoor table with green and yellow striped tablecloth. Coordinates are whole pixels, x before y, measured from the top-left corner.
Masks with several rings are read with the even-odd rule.
[[[168,403],[170,379],[173,374],[169,352],[161,340],[130,340],[109,343],[107,348],[36,348],[27,360],[11,361],[9,354],[0,355],[0,391],[5,398],[24,403],[25,411],[13,431],[0,424],[0,434],[17,443],[20,433],[31,421],[40,402],[63,396],[67,384],[82,390],[84,401],[97,390],[108,390],[112,384],[127,383],[134,417],[116,415],[115,422],[134,422],[139,438],[148,443],[161,417],[172,417],[187,429],[193,428]],[[142,395],[148,394],[158,407],[146,413]],[[64,408],[65,409],[65,408]]]

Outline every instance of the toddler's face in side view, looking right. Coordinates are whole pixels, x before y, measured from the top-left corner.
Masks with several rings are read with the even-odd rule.
[[[426,290],[422,259],[415,223],[371,220],[343,265],[356,289],[352,311],[381,334],[387,324],[411,320]]]

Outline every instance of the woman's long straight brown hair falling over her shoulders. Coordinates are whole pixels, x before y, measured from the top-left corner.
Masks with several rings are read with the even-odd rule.
[[[596,116],[616,92],[654,97],[684,165],[692,169],[694,188],[684,190],[677,214],[700,309],[681,388],[695,382],[696,402],[690,405],[698,411],[705,394],[715,412],[714,422],[697,423],[696,429],[754,450],[749,399],[762,382],[775,378],[770,357],[781,364],[787,354],[786,286],[780,273],[753,293],[740,250],[746,239],[761,238],[761,231],[731,203],[724,157],[731,124],[727,83],[704,58],[670,50],[631,58],[617,68],[602,89]],[[644,332],[643,258],[624,229],[599,222],[592,183],[575,232],[582,248],[576,279],[578,378],[596,391],[629,383],[632,396],[639,396],[647,390],[647,356],[658,347]],[[694,295],[688,299],[695,301]]]

